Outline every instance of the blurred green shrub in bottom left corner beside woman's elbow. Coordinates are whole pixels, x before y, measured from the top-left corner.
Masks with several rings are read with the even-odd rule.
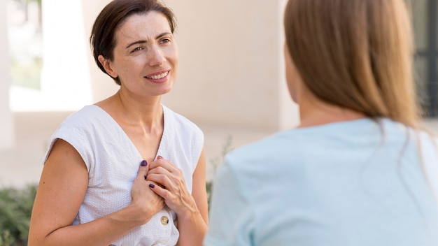
[[[36,184],[0,189],[0,246],[27,245]]]

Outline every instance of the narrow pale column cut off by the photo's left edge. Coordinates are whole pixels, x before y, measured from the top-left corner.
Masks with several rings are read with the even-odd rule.
[[[15,144],[13,114],[9,109],[10,57],[6,10],[6,1],[0,1],[0,150],[6,150]]]

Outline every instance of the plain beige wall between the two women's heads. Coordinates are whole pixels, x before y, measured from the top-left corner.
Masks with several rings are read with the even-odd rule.
[[[285,0],[167,4],[178,17],[180,71],[164,103],[197,122],[272,130],[297,124],[285,87]]]

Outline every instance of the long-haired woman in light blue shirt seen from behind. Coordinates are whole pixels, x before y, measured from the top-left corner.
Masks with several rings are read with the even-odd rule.
[[[438,154],[419,129],[410,24],[403,0],[288,1],[301,123],[227,154],[204,245],[438,245]]]

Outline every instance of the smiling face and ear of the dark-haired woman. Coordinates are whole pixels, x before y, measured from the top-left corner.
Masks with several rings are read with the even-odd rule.
[[[178,73],[178,47],[167,18],[155,11],[135,14],[115,32],[113,61],[104,67],[119,78],[122,90],[160,96],[171,90]]]

